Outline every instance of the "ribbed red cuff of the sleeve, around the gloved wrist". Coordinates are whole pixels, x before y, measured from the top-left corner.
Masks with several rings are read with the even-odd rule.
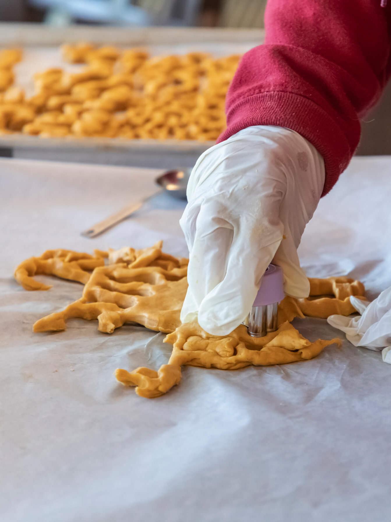
[[[333,188],[354,152],[337,120],[313,101],[291,92],[262,92],[231,101],[227,122],[217,143],[252,125],[287,127],[308,139],[325,163],[322,196]]]

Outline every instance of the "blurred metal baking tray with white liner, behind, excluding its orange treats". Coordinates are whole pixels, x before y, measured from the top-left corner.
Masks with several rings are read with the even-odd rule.
[[[114,44],[120,48],[142,46],[152,55],[210,52],[215,56],[244,53],[262,43],[260,29],[149,27],[50,27],[41,24],[0,23],[0,46],[20,46],[23,61],[16,65],[15,85],[32,93],[32,75],[60,64],[66,70],[80,65],[67,64],[59,45],[79,41]],[[39,65],[38,65],[39,64]],[[13,134],[0,136],[0,155],[18,158],[79,161],[140,167],[191,167],[198,156],[214,144],[198,140],[154,140],[121,138],[40,138]]]

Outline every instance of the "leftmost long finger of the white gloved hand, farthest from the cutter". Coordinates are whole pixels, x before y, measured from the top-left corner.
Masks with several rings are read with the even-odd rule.
[[[188,282],[191,302],[198,308],[213,288],[225,277],[227,257],[233,238],[233,226],[222,216],[227,213],[224,205],[216,200],[201,206],[192,245]],[[190,298],[186,303],[190,303]],[[185,308],[189,313],[193,310]]]

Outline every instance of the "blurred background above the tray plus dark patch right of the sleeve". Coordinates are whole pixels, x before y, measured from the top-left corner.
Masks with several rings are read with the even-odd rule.
[[[0,0],[0,21],[109,26],[263,28],[266,0]],[[362,120],[361,155],[391,154],[391,86]]]

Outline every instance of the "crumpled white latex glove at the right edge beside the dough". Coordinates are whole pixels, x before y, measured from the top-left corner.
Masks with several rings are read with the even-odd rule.
[[[331,315],[328,324],[344,331],[353,345],[381,351],[383,361],[391,364],[391,287],[372,303],[353,296],[350,302],[361,316]]]

